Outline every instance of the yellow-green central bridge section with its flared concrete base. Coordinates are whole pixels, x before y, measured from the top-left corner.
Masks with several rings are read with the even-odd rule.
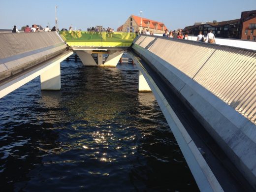
[[[136,37],[132,32],[61,31],[61,37],[86,66],[115,67]],[[97,62],[92,54],[97,54]],[[107,54],[104,59],[103,54]]]

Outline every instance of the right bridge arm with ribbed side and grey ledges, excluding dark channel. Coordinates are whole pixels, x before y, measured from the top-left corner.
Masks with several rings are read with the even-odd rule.
[[[154,73],[147,73],[170,128],[190,165],[199,189],[209,185],[212,176],[200,165],[190,136],[176,118],[166,98],[158,94],[161,84],[150,80],[159,74],[180,98],[203,128],[211,135],[224,154],[256,189],[256,125],[255,125],[255,73],[256,52],[184,39],[171,39],[140,35],[134,40],[132,51],[139,55]],[[141,70],[144,70],[141,67]],[[154,91],[155,89],[155,91]],[[168,121],[169,120],[169,121]],[[186,132],[186,131],[185,131]],[[190,154],[190,155],[189,155]],[[187,157],[186,157],[187,156]],[[193,161],[192,157],[198,158]],[[200,186],[202,185],[202,186]],[[212,186],[213,187],[213,186]],[[214,189],[214,188],[213,188]],[[218,190],[217,190],[218,191]]]

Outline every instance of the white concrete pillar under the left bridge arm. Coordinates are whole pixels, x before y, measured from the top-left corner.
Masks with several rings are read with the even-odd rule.
[[[40,75],[41,90],[61,89],[61,64],[54,64]]]

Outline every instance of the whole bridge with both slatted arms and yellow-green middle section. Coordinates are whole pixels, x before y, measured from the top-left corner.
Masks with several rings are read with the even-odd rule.
[[[37,76],[42,90],[60,90],[60,63],[73,52],[86,66],[116,66],[128,49],[140,70],[138,89],[154,93],[199,189],[256,190],[256,51],[134,37],[106,32],[0,34],[0,98]],[[99,54],[97,63],[93,53]],[[103,62],[101,54],[109,60]]]

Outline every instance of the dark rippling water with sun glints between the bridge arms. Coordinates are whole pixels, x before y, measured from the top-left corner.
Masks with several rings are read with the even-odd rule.
[[[1,191],[198,191],[136,66],[61,70],[61,91],[36,78],[0,99]]]

